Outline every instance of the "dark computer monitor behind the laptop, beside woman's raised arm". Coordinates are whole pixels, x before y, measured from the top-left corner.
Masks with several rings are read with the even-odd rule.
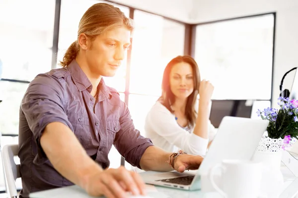
[[[215,128],[219,128],[224,116],[250,118],[252,102],[247,100],[212,100],[210,121]]]

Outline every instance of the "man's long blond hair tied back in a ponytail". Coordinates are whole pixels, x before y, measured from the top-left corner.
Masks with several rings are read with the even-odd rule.
[[[125,27],[131,32],[134,29],[132,19],[126,17],[118,7],[108,3],[96,3],[89,7],[79,21],[77,37],[84,33],[92,41],[96,36],[115,27]],[[76,58],[78,52],[79,44],[76,40],[67,49],[60,65],[68,66]]]

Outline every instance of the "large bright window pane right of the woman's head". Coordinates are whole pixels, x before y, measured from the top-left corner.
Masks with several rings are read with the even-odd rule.
[[[271,99],[274,14],[198,25],[195,58],[213,99]]]

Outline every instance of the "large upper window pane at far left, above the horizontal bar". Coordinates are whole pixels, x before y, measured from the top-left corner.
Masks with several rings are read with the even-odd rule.
[[[54,14],[55,0],[1,3],[0,78],[31,81],[51,69]]]

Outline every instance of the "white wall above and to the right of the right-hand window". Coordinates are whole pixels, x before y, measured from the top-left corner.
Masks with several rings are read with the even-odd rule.
[[[283,75],[298,66],[298,0],[194,0],[191,23],[255,15],[276,11],[273,105],[279,97]],[[291,89],[295,72],[287,75],[284,88]],[[256,80],[261,76],[253,76]]]

